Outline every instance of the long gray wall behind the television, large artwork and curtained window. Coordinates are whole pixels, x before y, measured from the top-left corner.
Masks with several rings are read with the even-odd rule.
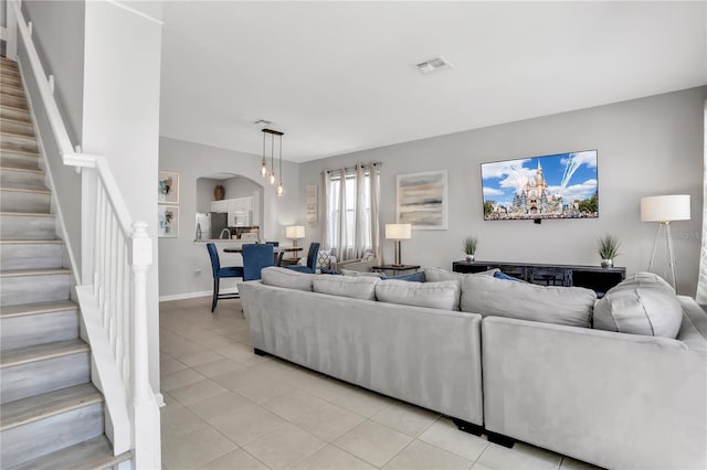
[[[404,263],[451,269],[462,259],[462,239],[479,238],[477,259],[599,265],[597,238],[614,234],[629,273],[647,267],[656,225],[641,222],[646,195],[692,195],[692,220],[673,224],[678,288],[695,295],[703,214],[703,103],[707,87],[493,126],[303,163],[298,218],[305,216],[305,186],[320,185],[320,171],[355,162],[382,161],[381,239],[392,260],[392,242],[382,228],[394,222],[395,175],[447,169],[447,231],[413,231],[402,244]],[[484,222],[479,163],[574,150],[599,150],[599,205],[595,220]],[[319,190],[321,194],[321,190]],[[319,200],[321,207],[321,199]],[[321,217],[321,214],[319,214]],[[321,220],[321,218],[320,218]],[[307,229],[320,239],[321,223]],[[654,270],[658,274],[661,269]]]

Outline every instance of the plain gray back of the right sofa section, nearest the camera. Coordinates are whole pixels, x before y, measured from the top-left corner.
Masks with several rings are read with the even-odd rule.
[[[604,468],[705,468],[707,353],[486,317],[486,428]]]

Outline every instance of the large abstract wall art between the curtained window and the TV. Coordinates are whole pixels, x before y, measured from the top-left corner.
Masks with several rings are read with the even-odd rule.
[[[447,228],[447,171],[425,171],[397,177],[395,218],[412,229]]]

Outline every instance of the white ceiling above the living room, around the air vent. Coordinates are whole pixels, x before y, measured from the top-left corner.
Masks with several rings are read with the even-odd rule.
[[[706,2],[162,7],[160,133],[292,161],[707,84]]]

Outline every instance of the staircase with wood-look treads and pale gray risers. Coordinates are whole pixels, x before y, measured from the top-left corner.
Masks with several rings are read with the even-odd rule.
[[[117,468],[133,456],[104,436],[39,161],[17,63],[0,57],[0,468]]]

